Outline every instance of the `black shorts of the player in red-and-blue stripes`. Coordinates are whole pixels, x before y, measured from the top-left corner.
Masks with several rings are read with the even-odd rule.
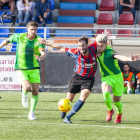
[[[76,94],[79,93],[82,89],[89,89],[92,91],[94,81],[94,77],[83,77],[77,73],[74,73],[69,83],[68,92]]]

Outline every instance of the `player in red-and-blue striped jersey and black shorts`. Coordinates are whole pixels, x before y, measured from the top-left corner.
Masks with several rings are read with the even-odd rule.
[[[78,48],[64,48],[60,45],[46,42],[44,39],[39,39],[40,43],[58,49],[61,52],[66,52],[68,56],[75,59],[74,74],[69,83],[67,99],[73,101],[76,93],[81,92],[79,100],[74,104],[70,113],[61,112],[61,118],[64,123],[72,123],[71,117],[75,115],[84,105],[87,97],[90,95],[94,85],[94,74],[96,72],[96,52],[97,45],[88,45],[88,38],[82,36],[78,39]]]

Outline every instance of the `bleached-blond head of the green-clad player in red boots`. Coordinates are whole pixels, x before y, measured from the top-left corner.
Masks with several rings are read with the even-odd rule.
[[[97,42],[97,50],[98,52],[102,53],[106,49],[107,46],[107,35],[100,34],[96,37]]]

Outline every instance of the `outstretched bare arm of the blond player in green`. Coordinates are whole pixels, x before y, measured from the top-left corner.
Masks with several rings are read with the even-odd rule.
[[[131,54],[131,57],[127,57],[127,56],[124,56],[124,55],[118,55],[117,54],[117,55],[114,56],[114,58],[119,59],[121,61],[137,61],[140,58],[140,54],[139,53],[137,53],[135,55]]]

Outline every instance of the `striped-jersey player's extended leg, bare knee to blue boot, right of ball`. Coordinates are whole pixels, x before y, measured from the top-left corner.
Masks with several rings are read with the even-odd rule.
[[[72,123],[70,121],[70,118],[82,108],[82,106],[84,105],[84,103],[89,95],[90,95],[89,89],[83,89],[81,91],[79,100],[73,105],[70,113],[65,117],[65,119],[64,119],[65,123]]]

